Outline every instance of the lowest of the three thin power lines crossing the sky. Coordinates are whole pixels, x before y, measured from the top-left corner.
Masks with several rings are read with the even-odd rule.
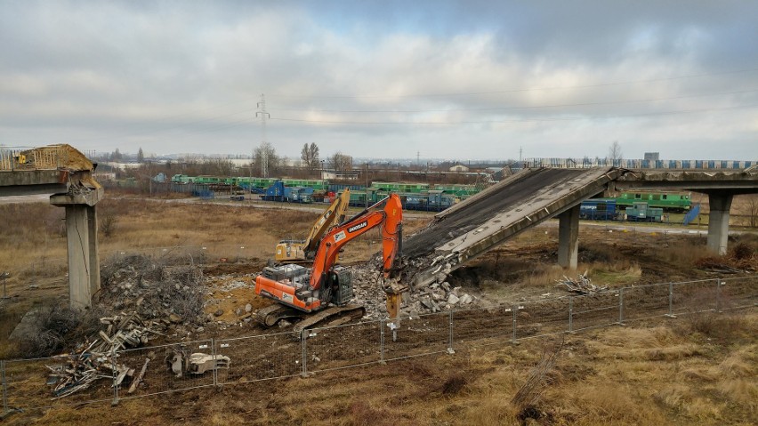
[[[524,118],[521,120],[482,120],[482,121],[456,121],[456,122],[422,122],[422,121],[337,121],[337,120],[307,120],[299,118],[283,118],[283,117],[270,117],[270,120],[277,121],[289,121],[297,123],[314,123],[314,124],[327,124],[327,125],[487,125],[487,124],[504,124],[504,123],[536,123],[536,122],[550,122],[550,121],[577,121],[587,119],[600,119],[600,118],[627,118],[627,117],[654,117],[654,116],[670,116],[676,114],[694,114],[699,112],[712,112],[721,111],[726,109],[740,109],[740,108],[754,108],[758,107],[758,104],[750,105],[737,105],[733,107],[723,108],[709,108],[709,109],[682,109],[675,111],[660,111],[654,113],[641,113],[641,114],[626,114],[626,115],[605,115],[605,116],[593,116],[593,117],[555,117],[555,118]]]

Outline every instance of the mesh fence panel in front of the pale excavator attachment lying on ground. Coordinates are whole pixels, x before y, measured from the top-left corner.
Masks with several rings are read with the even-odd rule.
[[[205,373],[193,373],[190,371],[188,359],[194,353],[202,353],[212,357],[214,355],[213,350],[213,342],[207,340],[118,351],[117,363],[133,369],[131,380],[123,382],[119,387],[118,398],[143,397],[173,390],[212,386],[214,384],[213,370]],[[178,365],[173,366],[177,369],[176,373],[172,369],[173,361],[177,359],[175,357],[178,357]],[[131,385],[141,373],[141,369],[148,359],[149,362],[141,382],[134,387],[132,392],[129,392],[132,388]]]

